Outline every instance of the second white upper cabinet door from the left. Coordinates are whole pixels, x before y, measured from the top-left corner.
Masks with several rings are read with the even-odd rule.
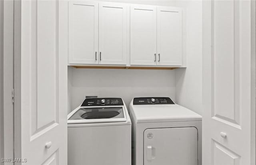
[[[99,3],[99,52],[99,64],[126,64],[126,4]]]

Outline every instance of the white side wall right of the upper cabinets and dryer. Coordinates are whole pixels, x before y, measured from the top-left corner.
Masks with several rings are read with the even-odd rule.
[[[202,115],[202,1],[179,1],[186,8],[187,68],[176,69],[176,103]]]

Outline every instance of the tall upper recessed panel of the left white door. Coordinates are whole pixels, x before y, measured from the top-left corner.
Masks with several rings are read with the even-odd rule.
[[[53,125],[58,124],[59,120],[59,105],[57,101],[59,99],[58,1],[55,3],[50,2],[49,4],[47,2],[32,1],[31,5],[30,39],[34,45],[30,47],[31,60],[28,64],[30,65],[30,117],[32,122],[30,140],[34,140],[42,132],[46,132]],[[44,12],[46,7],[49,9],[47,13]],[[49,14],[47,22],[44,21],[46,14]],[[54,14],[55,17],[52,17]],[[46,28],[44,24],[47,23],[48,26]],[[49,44],[45,45],[45,42]]]

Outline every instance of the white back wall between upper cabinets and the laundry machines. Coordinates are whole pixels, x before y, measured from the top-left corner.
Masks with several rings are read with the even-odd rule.
[[[69,110],[86,95],[121,97],[128,106],[133,97],[170,97],[175,101],[174,70],[77,69],[68,67]],[[70,112],[68,111],[68,112]]]

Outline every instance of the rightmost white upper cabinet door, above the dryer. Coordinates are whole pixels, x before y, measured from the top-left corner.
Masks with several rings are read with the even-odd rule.
[[[157,65],[182,65],[182,10],[157,7]]]

